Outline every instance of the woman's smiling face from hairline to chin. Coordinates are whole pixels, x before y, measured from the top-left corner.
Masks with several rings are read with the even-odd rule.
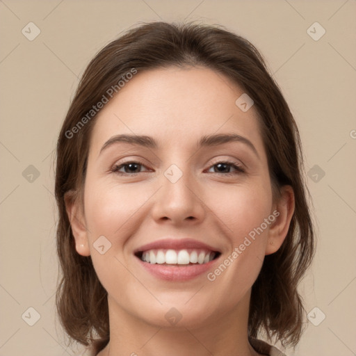
[[[282,240],[270,245],[279,212],[257,112],[241,95],[207,68],[170,67],[138,72],[99,112],[74,235],[112,313],[192,327],[249,299]]]

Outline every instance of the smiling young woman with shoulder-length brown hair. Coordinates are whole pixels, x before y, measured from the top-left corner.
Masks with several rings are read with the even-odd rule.
[[[56,305],[80,355],[296,346],[314,254],[300,136],[248,40],[127,31],[83,74],[56,164]]]

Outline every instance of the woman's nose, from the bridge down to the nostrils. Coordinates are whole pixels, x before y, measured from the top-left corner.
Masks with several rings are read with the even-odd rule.
[[[154,195],[152,208],[154,220],[157,222],[169,220],[175,225],[187,222],[196,224],[204,220],[207,209],[202,196],[204,193],[188,168],[181,170],[177,165],[172,165],[162,175],[160,186]]]

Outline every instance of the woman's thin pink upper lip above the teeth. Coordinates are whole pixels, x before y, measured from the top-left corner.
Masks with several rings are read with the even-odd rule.
[[[157,240],[152,243],[147,243],[146,245],[142,245],[136,250],[133,251],[134,254],[138,252],[143,252],[147,250],[154,249],[172,249],[172,250],[184,250],[186,248],[196,248],[196,249],[204,249],[211,250],[213,252],[220,252],[217,248],[214,248],[207,243],[203,243],[201,241],[193,240],[193,238],[163,238],[162,240]]]

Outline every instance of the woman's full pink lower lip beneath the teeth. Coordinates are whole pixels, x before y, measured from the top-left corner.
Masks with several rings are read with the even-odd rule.
[[[145,268],[149,273],[155,277],[160,278],[165,281],[186,281],[193,280],[193,278],[198,277],[204,273],[207,273],[209,269],[216,263],[219,259],[213,259],[212,261],[207,262],[206,264],[191,264],[191,265],[182,265],[182,266],[167,266],[163,264],[149,264],[144,262],[138,257],[138,262]]]

